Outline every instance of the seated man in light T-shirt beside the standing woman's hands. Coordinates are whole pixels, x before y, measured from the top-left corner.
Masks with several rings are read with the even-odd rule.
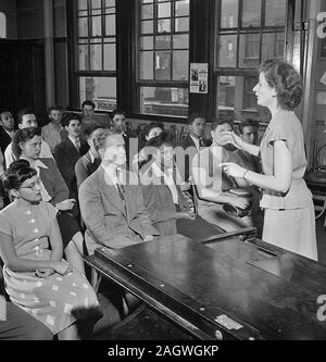
[[[220,226],[226,232],[233,232],[241,227],[252,225],[261,228],[255,220],[259,213],[259,192],[244,179],[228,177],[221,167],[223,162],[237,162],[248,170],[254,170],[253,165],[243,158],[243,152],[227,145],[226,136],[233,127],[227,121],[216,122],[212,128],[213,143],[199,152],[192,162],[192,177],[198,192],[199,215],[209,223]],[[253,198],[233,195],[231,189],[244,188]],[[227,213],[225,204],[246,210],[252,202],[252,219],[239,217]]]

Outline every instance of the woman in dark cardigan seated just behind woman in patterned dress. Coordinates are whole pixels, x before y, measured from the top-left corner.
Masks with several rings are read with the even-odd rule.
[[[13,152],[20,160],[28,161],[40,179],[42,201],[50,202],[58,210],[58,223],[62,236],[64,254],[75,267],[85,274],[82,259],[83,235],[74,219],[76,200],[68,199],[68,188],[52,159],[40,159],[41,129],[24,128],[13,136]],[[71,242],[73,241],[73,242]]]

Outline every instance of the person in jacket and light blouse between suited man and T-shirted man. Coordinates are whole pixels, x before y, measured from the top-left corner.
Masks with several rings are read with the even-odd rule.
[[[191,211],[181,190],[186,186],[174,162],[172,137],[163,132],[147,142],[153,151],[151,161],[140,168],[143,203],[161,236],[181,234],[202,239],[221,234],[221,229]]]

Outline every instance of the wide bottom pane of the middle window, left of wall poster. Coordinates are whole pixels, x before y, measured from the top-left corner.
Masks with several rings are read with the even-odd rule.
[[[187,116],[188,99],[186,88],[140,87],[140,112]]]

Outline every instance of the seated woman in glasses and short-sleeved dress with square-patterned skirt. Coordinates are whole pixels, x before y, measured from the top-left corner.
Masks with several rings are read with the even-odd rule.
[[[14,199],[0,211],[5,290],[12,302],[59,339],[77,339],[75,322],[90,314],[99,316],[99,303],[87,279],[62,259],[57,210],[41,201],[34,168],[14,162],[2,182]]]

